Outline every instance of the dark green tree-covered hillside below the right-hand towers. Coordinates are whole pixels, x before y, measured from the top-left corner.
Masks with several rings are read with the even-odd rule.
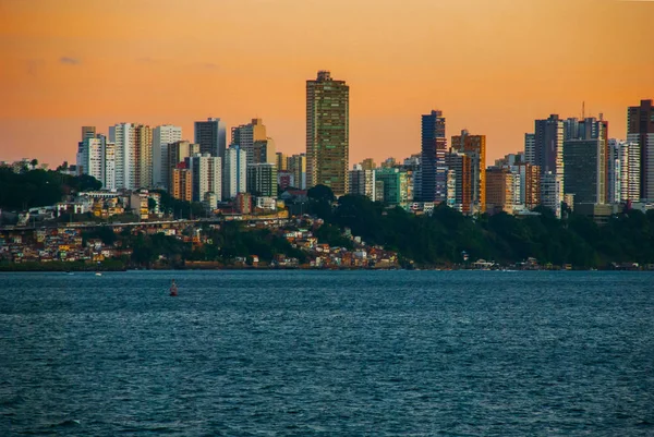
[[[398,251],[417,265],[462,264],[463,252],[471,260],[508,264],[534,257],[579,268],[654,263],[654,211],[631,210],[598,226],[574,214],[559,220],[546,208],[537,209],[541,216],[502,213],[475,218],[441,205],[432,216],[415,216],[364,196],[342,196],[329,208],[328,195],[310,197],[312,210],[327,223],[350,228],[368,244]]]

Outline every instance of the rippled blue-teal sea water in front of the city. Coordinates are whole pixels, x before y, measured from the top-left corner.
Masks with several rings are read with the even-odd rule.
[[[654,275],[0,274],[13,435],[652,436]]]

